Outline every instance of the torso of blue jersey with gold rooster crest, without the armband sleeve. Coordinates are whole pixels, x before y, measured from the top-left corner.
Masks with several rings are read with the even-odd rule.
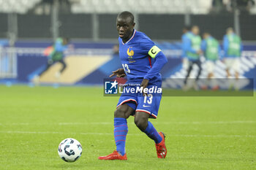
[[[154,58],[148,55],[154,42],[146,34],[134,30],[132,37],[124,43],[118,38],[119,57],[129,82],[141,82],[154,64]],[[153,51],[154,52],[154,51]],[[154,75],[150,82],[161,80],[161,74]]]

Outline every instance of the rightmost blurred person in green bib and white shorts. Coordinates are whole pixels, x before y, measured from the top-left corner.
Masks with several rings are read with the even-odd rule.
[[[235,72],[236,80],[239,77],[241,51],[243,46],[241,38],[236,35],[233,28],[227,28],[227,34],[223,37],[224,63],[226,65],[227,78],[231,77],[230,70]]]

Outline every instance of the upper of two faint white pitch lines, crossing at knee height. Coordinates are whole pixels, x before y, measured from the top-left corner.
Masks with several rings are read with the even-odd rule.
[[[172,124],[251,124],[256,123],[253,120],[234,120],[234,121],[209,121],[209,122],[154,122],[155,125],[172,125]],[[128,123],[134,124],[134,123]],[[113,125],[113,122],[95,122],[95,123],[0,123],[0,125]]]

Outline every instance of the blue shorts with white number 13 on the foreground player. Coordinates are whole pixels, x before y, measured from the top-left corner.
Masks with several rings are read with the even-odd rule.
[[[148,85],[148,88],[151,86]],[[127,86],[126,88],[130,89],[134,87],[135,86]],[[141,93],[122,93],[116,108],[120,107],[122,104],[127,104],[129,107],[132,107],[135,112],[146,112],[150,115],[150,118],[157,118],[162,93],[147,94],[148,96],[143,96]],[[131,115],[135,115],[135,112]]]

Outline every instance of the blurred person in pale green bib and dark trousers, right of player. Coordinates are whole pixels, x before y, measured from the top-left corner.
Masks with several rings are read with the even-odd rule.
[[[197,90],[197,80],[199,79],[200,73],[202,71],[200,55],[202,54],[201,46],[201,37],[199,36],[200,29],[198,26],[192,26],[191,34],[187,34],[187,39],[184,42],[185,55],[189,61],[189,68],[187,71],[187,76],[184,81],[184,90],[188,90],[190,85],[187,85],[187,79],[190,72],[192,71],[193,65],[196,64],[199,68],[195,81],[192,82],[195,90]],[[190,84],[190,83],[189,83]]]

